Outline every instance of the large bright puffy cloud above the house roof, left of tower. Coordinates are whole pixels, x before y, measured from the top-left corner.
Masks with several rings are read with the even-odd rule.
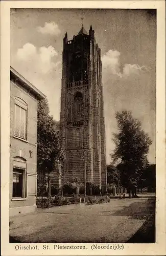
[[[16,53],[17,60],[42,74],[49,73],[58,66],[58,62],[53,61],[53,57],[57,55],[53,46],[37,48],[29,42]]]

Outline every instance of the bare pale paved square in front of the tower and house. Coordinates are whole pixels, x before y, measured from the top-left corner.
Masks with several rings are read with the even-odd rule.
[[[33,214],[10,218],[11,241],[126,243],[154,215],[150,200],[154,201],[147,197],[111,199],[110,203],[38,209]]]

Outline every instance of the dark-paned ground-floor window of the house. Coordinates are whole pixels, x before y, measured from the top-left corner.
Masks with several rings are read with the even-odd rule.
[[[13,198],[25,197],[25,169],[13,168]]]

